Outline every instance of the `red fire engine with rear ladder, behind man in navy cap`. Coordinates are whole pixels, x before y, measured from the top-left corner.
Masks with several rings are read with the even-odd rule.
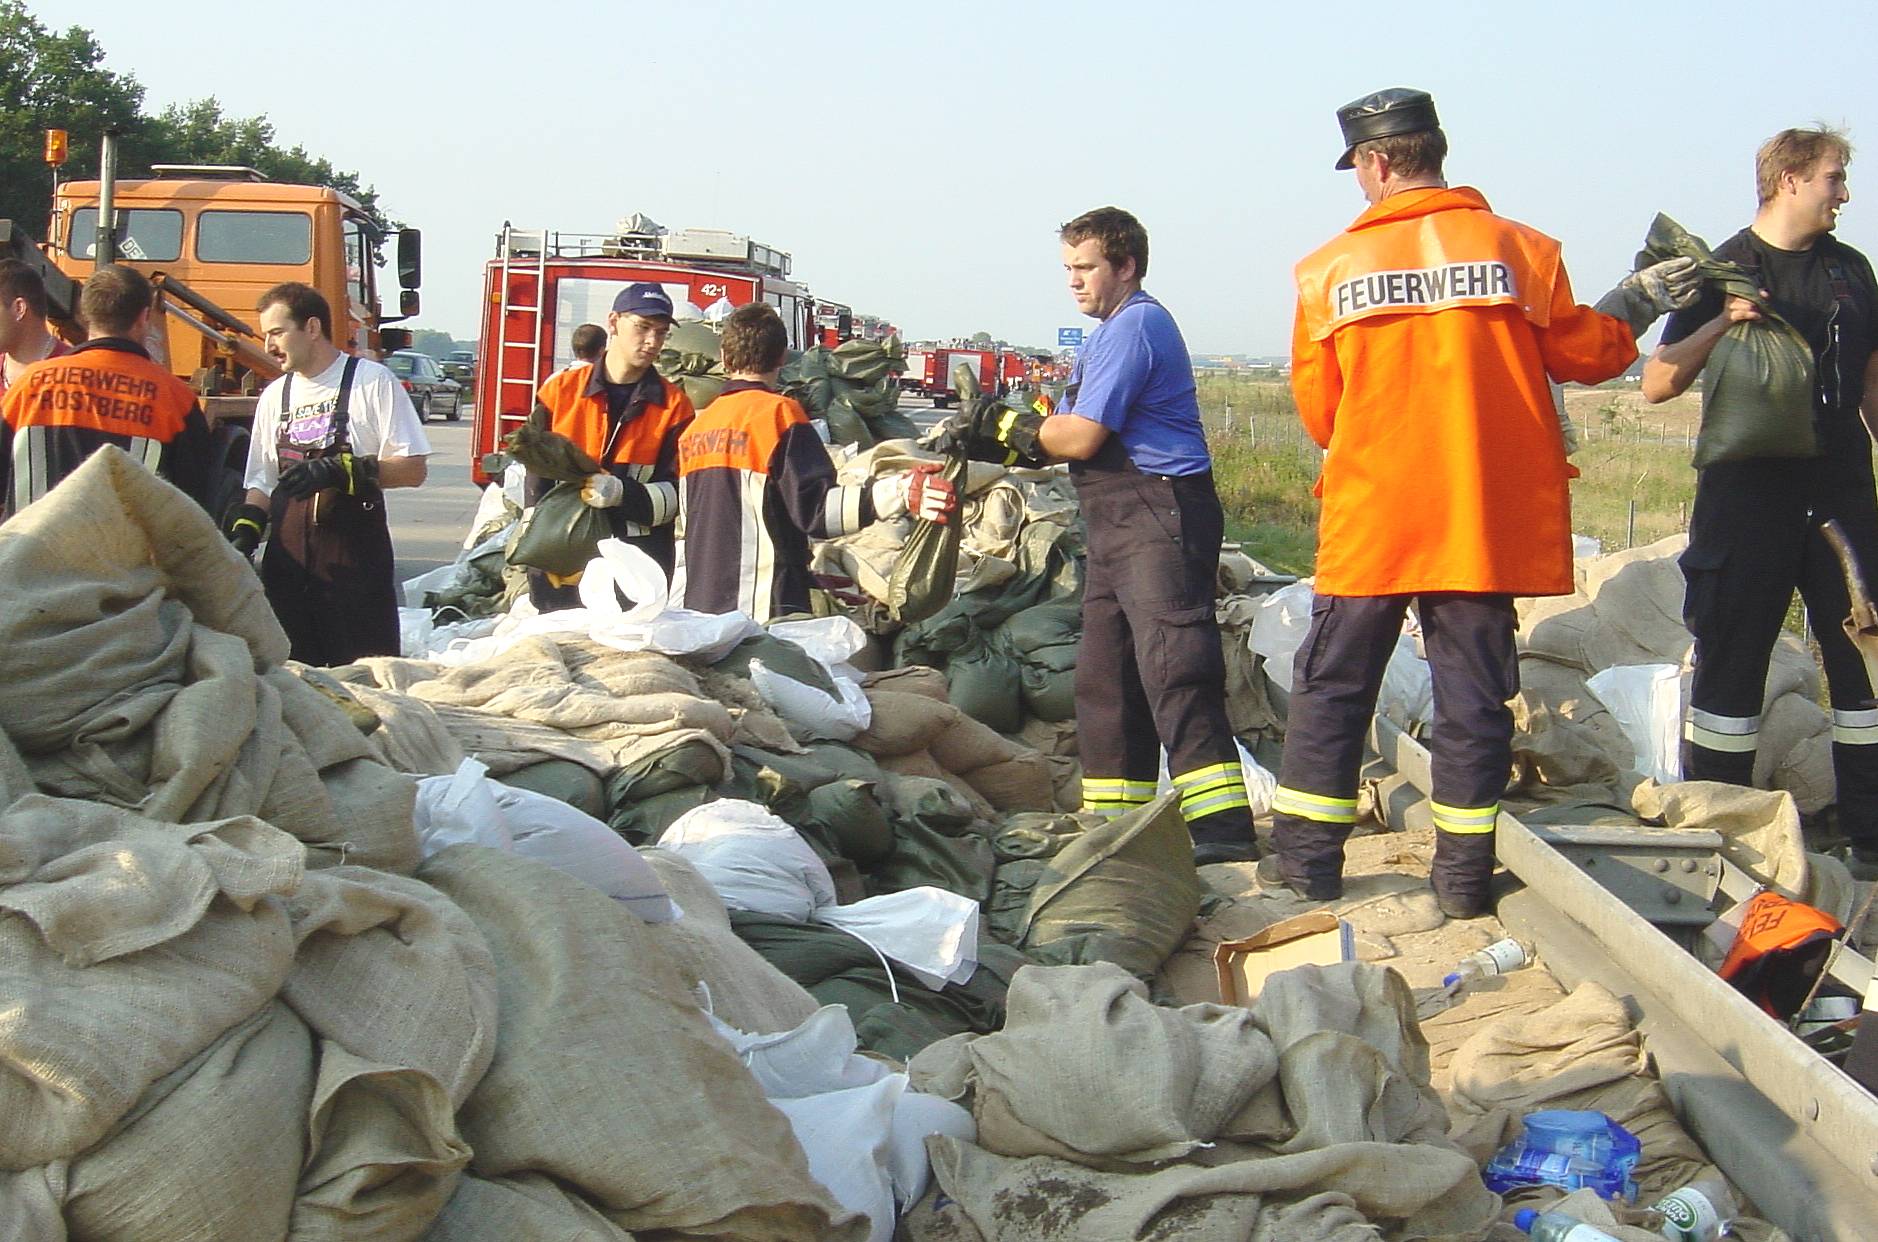
[[[764,301],[789,327],[789,348],[815,344],[815,303],[789,280],[789,256],[736,233],[665,233],[639,220],[610,235],[503,227],[483,278],[483,342],[477,353],[470,474],[490,481],[485,457],[528,419],[535,391],[573,363],[582,323],[607,323],[614,295],[652,280],[672,295],[680,318],[717,321]]]

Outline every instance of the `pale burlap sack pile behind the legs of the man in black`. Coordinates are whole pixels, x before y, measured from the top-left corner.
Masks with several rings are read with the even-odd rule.
[[[1583,556],[1574,594],[1519,601],[1521,691],[1514,703],[1514,752],[1529,791],[1578,787],[1583,797],[1626,800],[1636,784],[1632,744],[1585,688],[1593,673],[1619,665],[1681,665],[1686,708],[1694,641],[1683,626],[1683,571],[1677,566],[1686,543],[1686,536],[1670,536],[1639,549]],[[1818,697],[1820,673],[1812,656],[1793,635],[1782,633],[1767,675],[1754,782],[1792,793],[1803,814],[1833,800],[1831,720]]]

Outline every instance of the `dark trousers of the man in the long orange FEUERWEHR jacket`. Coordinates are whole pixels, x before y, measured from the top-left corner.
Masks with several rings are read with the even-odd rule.
[[[1356,823],[1356,780],[1382,671],[1414,599],[1435,680],[1435,893],[1484,904],[1493,823],[1512,770],[1519,693],[1512,596],[1316,596],[1298,648],[1271,844],[1285,879],[1313,898],[1341,893],[1343,842]]]

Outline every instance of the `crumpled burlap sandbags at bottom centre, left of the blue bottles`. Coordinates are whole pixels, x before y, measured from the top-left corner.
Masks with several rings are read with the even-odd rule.
[[[1378,966],[1273,975],[1251,1009],[1157,1007],[1116,966],[1033,966],[999,1033],[941,1041],[909,1073],[978,1127],[926,1141],[913,1242],[1480,1238],[1497,1216],[1446,1137],[1408,988]]]

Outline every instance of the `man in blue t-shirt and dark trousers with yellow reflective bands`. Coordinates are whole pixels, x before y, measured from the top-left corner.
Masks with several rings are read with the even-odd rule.
[[[1226,665],[1213,620],[1224,517],[1174,316],[1142,291],[1147,229],[1119,207],[1063,225],[1063,267],[1089,333],[1055,413],[1008,411],[975,445],[993,460],[1070,462],[1089,530],[1076,661],[1084,810],[1155,795],[1161,748],[1194,862],[1258,857]]]

